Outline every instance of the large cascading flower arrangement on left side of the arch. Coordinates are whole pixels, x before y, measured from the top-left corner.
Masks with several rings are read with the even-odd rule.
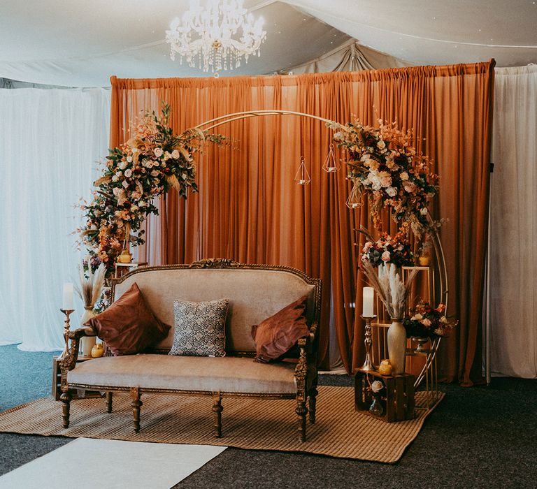
[[[82,203],[86,224],[79,228],[80,240],[90,251],[90,263],[104,263],[108,273],[117,256],[129,244],[142,245],[141,224],[149,214],[158,214],[154,199],[169,189],[180,196],[196,192],[196,165],[192,155],[203,142],[221,144],[223,136],[189,129],[174,136],[169,126],[169,105],[162,117],[146,114],[131,138],[109,150],[103,176],[94,182],[91,203]]]

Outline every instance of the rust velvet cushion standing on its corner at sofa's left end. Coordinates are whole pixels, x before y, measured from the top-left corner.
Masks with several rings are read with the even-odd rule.
[[[152,313],[136,282],[84,326],[91,326],[114,355],[140,353],[164,340],[170,329]]]

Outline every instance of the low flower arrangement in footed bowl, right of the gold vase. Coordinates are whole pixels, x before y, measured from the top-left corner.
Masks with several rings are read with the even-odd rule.
[[[451,322],[445,316],[445,305],[432,307],[428,302],[420,301],[413,309],[413,315],[403,320],[407,337],[436,338],[447,335],[457,321]]]

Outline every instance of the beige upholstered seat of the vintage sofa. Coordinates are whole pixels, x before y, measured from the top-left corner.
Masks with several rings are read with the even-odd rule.
[[[296,393],[293,363],[252,358],[139,354],[95,358],[67,375],[71,386],[173,389],[221,393]]]

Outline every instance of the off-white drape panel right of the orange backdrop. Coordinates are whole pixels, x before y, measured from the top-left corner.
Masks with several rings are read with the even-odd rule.
[[[490,227],[491,371],[537,377],[537,66],[496,68]]]

